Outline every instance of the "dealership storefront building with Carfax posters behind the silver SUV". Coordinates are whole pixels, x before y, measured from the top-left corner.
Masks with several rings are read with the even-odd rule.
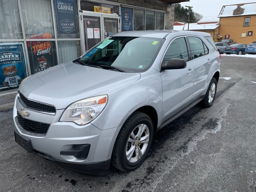
[[[173,29],[189,0],[0,0],[0,91],[121,31]]]

